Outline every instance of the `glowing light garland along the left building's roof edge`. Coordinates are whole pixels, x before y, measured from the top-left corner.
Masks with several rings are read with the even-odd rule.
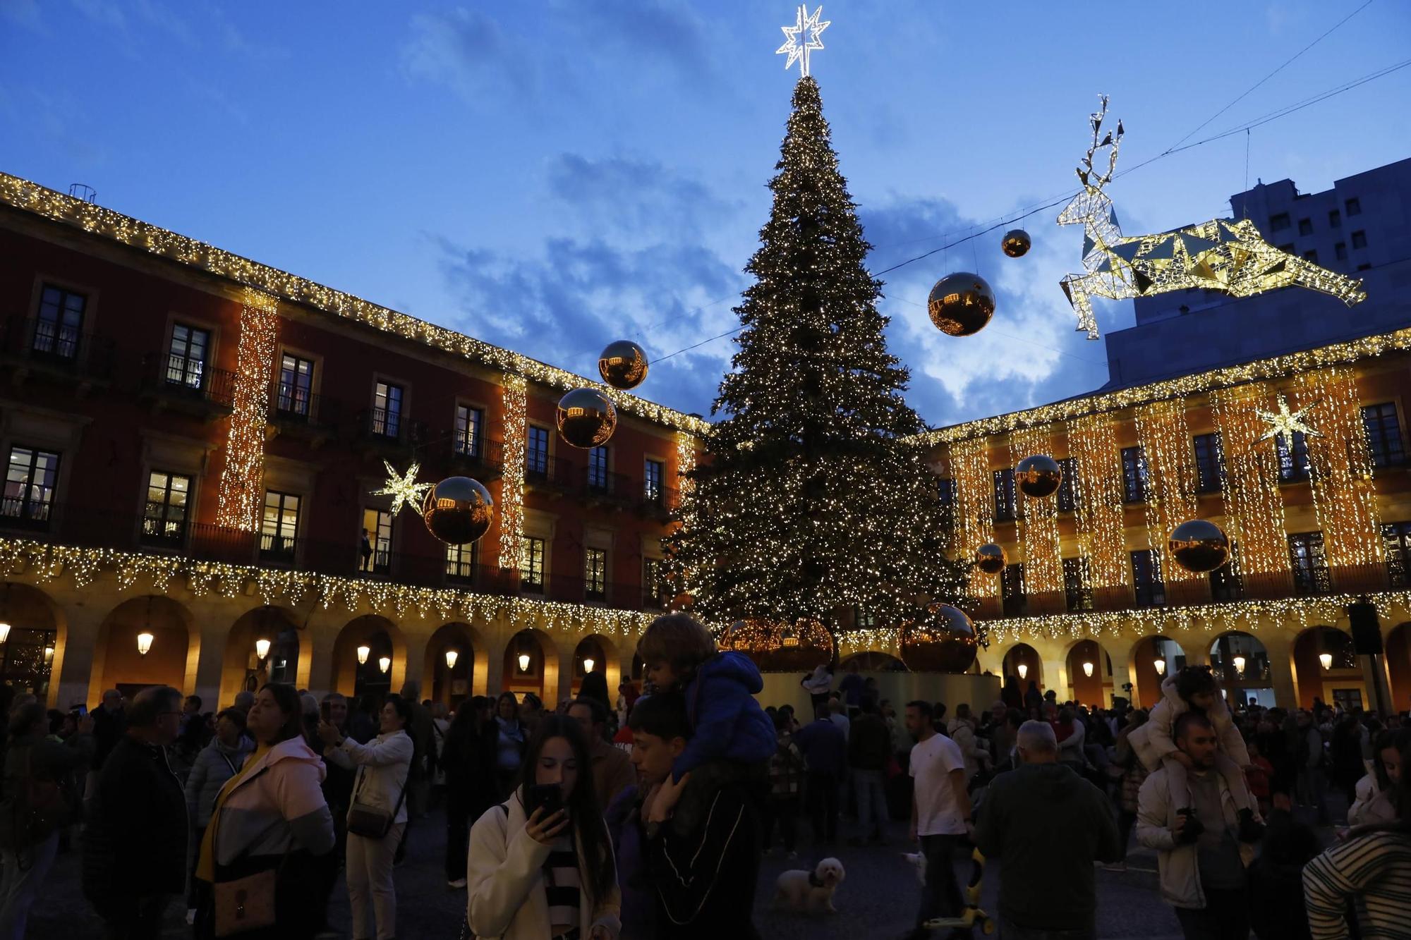
[[[21,179],[20,176],[0,172],[0,202],[55,222],[76,226],[106,239],[113,239],[134,248],[143,248],[188,267],[230,278],[246,287],[254,287],[272,294],[277,298],[306,303],[326,313],[357,320],[373,329],[394,333],[402,339],[416,340],[495,370],[523,375],[553,388],[569,391],[591,385],[608,395],[625,412],[691,433],[710,433],[710,423],[694,415],[629,395],[610,385],[540,363],[514,350],[492,346],[473,336],[466,336],[464,333],[428,323],[415,316],[378,306],[360,296],[334,291],[288,271],[281,271],[258,261],[243,258],[238,254],[231,254],[205,241],[168,231],[148,222],[140,222],[111,209],[65,196],[61,192],[30,182],[28,179]]]

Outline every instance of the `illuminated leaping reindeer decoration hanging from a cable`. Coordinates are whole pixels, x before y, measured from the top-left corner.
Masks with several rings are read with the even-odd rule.
[[[1098,339],[1092,296],[1122,301],[1167,291],[1205,288],[1230,296],[1250,296],[1281,287],[1305,287],[1331,294],[1348,306],[1367,299],[1362,281],[1319,268],[1316,264],[1280,251],[1264,241],[1249,219],[1212,219],[1198,226],[1147,236],[1123,236],[1112,199],[1102,188],[1112,182],[1122,143],[1122,121],[1116,133],[1102,137],[1108,96],[1092,114],[1092,147],[1078,167],[1082,192],[1060,213],[1058,224],[1082,224],[1082,267],[1060,285],[1078,312],[1078,329]],[[1092,167],[1094,154],[1108,147],[1108,169]]]

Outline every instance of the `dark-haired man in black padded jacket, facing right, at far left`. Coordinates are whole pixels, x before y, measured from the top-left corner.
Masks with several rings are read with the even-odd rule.
[[[99,775],[83,830],[83,895],[111,940],[161,933],[171,895],[186,885],[186,795],[166,748],[182,723],[182,694],[143,689],[127,733]]]

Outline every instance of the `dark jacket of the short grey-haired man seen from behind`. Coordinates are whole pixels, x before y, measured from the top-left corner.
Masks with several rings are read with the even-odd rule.
[[[1092,930],[1092,862],[1122,858],[1102,790],[1062,764],[1020,764],[989,785],[975,844],[1002,858],[999,912],[1016,926]]]

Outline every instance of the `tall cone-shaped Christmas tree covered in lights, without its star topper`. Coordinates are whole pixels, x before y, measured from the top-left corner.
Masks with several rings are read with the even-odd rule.
[[[964,576],[944,555],[935,478],[906,442],[926,425],[902,397],[909,373],[886,349],[882,282],[813,78],[794,88],[776,169],[713,409],[725,418],[667,552],[708,621],[896,627],[927,600],[957,601]]]

